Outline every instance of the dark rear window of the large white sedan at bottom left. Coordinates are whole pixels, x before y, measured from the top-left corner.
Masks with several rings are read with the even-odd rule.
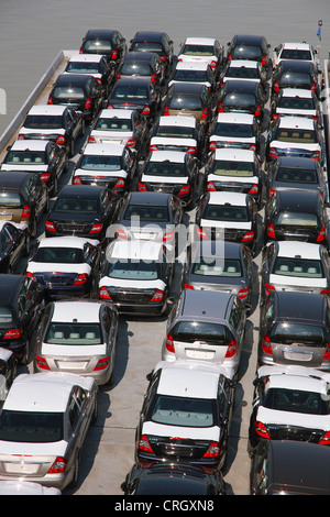
[[[30,413],[3,409],[0,440],[16,443],[50,443],[64,438],[62,413]]]

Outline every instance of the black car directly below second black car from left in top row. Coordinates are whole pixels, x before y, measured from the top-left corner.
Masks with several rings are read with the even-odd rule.
[[[162,88],[165,70],[161,57],[155,52],[128,52],[117,70],[117,80],[128,77],[148,77],[153,85]]]

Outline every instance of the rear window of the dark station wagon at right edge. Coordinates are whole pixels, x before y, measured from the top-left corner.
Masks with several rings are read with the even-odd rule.
[[[326,346],[329,336],[321,324],[283,322],[272,327],[268,338],[283,344],[304,343],[308,346]]]

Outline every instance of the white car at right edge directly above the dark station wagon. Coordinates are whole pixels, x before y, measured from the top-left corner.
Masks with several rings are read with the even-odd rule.
[[[273,290],[330,293],[330,263],[326,246],[314,242],[277,241],[263,249],[261,302]]]

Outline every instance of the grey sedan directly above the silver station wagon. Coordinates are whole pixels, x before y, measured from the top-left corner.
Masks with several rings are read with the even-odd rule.
[[[253,263],[248,246],[237,242],[193,244],[185,264],[183,288],[235,294],[251,309]]]

